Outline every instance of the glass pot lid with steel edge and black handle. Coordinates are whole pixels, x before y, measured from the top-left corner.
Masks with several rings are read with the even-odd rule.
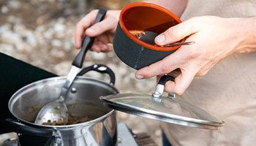
[[[114,110],[144,118],[211,130],[224,126],[223,121],[187,101],[176,98],[175,94],[163,95],[164,85],[168,80],[174,80],[174,78],[163,76],[152,94],[118,93],[101,96],[100,99]]]

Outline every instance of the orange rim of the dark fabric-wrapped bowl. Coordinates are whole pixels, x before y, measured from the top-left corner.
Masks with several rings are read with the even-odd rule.
[[[165,12],[165,13],[167,13],[167,15],[170,15],[178,23],[181,23],[181,20],[178,18],[178,16],[176,16],[173,12],[170,12],[170,10],[165,9],[165,7],[161,7],[161,6],[157,5],[157,4],[152,4],[152,3],[148,3],[148,2],[135,2],[135,3],[132,3],[132,4],[128,4],[126,7],[124,7],[121,10],[121,13],[120,13],[120,16],[119,16],[120,26],[121,26],[122,30],[124,31],[124,33],[127,34],[127,37],[129,37],[130,39],[132,39],[134,42],[138,43],[139,45],[142,45],[143,47],[146,47],[146,48],[151,49],[151,50],[171,51],[171,50],[176,50],[179,47],[181,47],[181,46],[158,47],[158,46],[150,45],[150,44],[148,44],[146,42],[143,42],[140,39],[138,39],[135,36],[133,36],[127,30],[127,28],[124,26],[124,21],[123,21],[124,12],[126,12],[128,9],[131,9],[132,7],[151,7],[151,8],[154,8],[154,9],[158,9],[159,11]],[[185,42],[185,40],[186,39],[182,39],[181,42]]]

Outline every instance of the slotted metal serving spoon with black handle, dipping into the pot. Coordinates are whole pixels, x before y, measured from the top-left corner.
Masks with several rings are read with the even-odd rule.
[[[97,17],[94,20],[94,24],[101,21],[105,14],[106,10],[100,8],[97,14]],[[72,84],[75,76],[78,74],[80,68],[83,66],[84,55],[87,50],[91,48],[91,45],[94,42],[94,37],[86,36],[83,39],[82,47],[80,52],[76,56],[75,60],[72,62],[72,68],[67,75],[67,80],[64,83],[64,86],[61,88],[61,93],[58,99],[50,101],[48,104],[45,104],[39,110],[37,118],[34,123],[45,124],[45,125],[66,125],[69,118],[69,112],[67,110],[67,105],[64,103],[64,99],[67,95],[70,85]]]

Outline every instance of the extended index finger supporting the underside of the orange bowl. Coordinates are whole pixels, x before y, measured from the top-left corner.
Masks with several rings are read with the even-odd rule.
[[[162,61],[157,61],[150,66],[146,66],[143,69],[138,70],[135,73],[135,77],[137,79],[146,79],[160,74],[168,74],[172,72],[181,66],[180,64],[184,56],[181,55],[181,53],[181,51],[177,50],[175,53],[172,53],[171,55],[168,55],[162,59]]]

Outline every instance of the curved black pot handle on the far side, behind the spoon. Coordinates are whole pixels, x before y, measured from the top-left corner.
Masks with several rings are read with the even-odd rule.
[[[108,66],[105,66],[102,64],[94,64],[92,66],[88,66],[82,69],[78,73],[78,75],[82,76],[83,74],[86,74],[86,72],[89,72],[89,71],[96,71],[99,73],[108,74],[110,76],[110,85],[115,85],[115,82],[116,82],[115,73]]]

